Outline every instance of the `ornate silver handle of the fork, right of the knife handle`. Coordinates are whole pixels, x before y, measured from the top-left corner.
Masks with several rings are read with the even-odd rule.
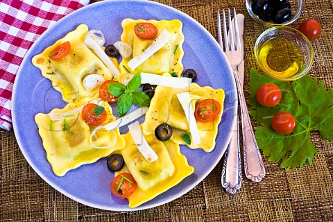
[[[241,107],[241,125],[243,132],[243,149],[244,149],[244,171],[246,178],[260,182],[266,175],[264,162],[262,162],[262,155],[255,139],[255,134],[251,124],[250,116],[248,114],[248,107],[246,106],[246,99],[239,80],[238,71],[234,71],[234,78],[236,79],[239,104]]]

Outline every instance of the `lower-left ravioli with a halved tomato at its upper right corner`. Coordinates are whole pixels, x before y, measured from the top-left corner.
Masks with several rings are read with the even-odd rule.
[[[54,109],[51,112],[67,112],[84,105],[87,99],[80,104],[69,103],[63,109]],[[107,102],[103,102],[105,111],[108,114],[105,124],[114,121],[112,108]],[[110,146],[109,148],[94,148],[90,143],[90,136],[94,126],[89,126],[83,121],[80,112],[67,115],[62,120],[51,121],[49,114],[38,113],[35,115],[40,137],[46,151],[47,160],[51,164],[53,172],[57,176],[64,176],[67,171],[80,167],[83,164],[96,162],[102,157],[119,151],[125,146],[125,141],[119,133],[119,129],[107,132],[99,130],[97,138],[93,139],[95,146]],[[66,123],[65,123],[66,122]],[[67,124],[68,130],[65,126]],[[117,140],[116,140],[117,139]]]

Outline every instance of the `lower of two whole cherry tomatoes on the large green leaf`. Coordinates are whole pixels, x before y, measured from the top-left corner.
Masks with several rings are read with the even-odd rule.
[[[287,135],[295,129],[296,120],[289,112],[278,112],[272,118],[271,125],[275,133]]]

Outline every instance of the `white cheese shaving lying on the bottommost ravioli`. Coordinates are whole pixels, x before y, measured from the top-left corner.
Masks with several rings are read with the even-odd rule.
[[[148,162],[154,162],[155,160],[157,160],[158,159],[157,154],[151,148],[151,146],[149,146],[148,142],[144,138],[139,122],[136,121],[135,123],[130,124],[128,128],[130,130],[130,135],[132,136],[135,142],[135,145],[137,145],[137,149],[144,156],[144,158]]]

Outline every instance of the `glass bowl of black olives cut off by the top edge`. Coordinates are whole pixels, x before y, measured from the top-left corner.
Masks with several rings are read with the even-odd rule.
[[[302,0],[246,0],[250,16],[268,27],[287,26],[295,22],[302,6]]]

